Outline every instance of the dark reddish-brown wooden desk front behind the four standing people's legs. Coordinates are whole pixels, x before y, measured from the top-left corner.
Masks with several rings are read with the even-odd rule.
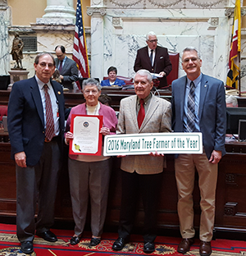
[[[16,171],[15,162],[10,159],[10,149],[11,145],[9,143],[0,143],[0,218],[16,217]],[[226,149],[229,153],[226,153],[225,157],[221,159],[218,171],[216,237],[223,237],[225,232],[233,233],[234,235],[246,232],[246,153],[244,153],[246,144],[230,143],[226,144]],[[67,147],[65,151],[65,156],[67,156]],[[231,151],[234,151],[234,153]],[[179,219],[176,209],[178,194],[175,183],[174,157],[173,155],[166,155],[166,158],[167,167],[162,174],[162,191],[158,208],[158,231],[163,234],[168,229],[179,234]],[[67,157],[63,159],[63,169],[57,189],[55,216],[59,222],[72,223]],[[117,230],[121,208],[120,164],[120,158],[113,158],[105,222],[106,228],[113,227],[114,231]],[[194,225],[196,229],[198,229],[200,217],[199,200],[198,176],[196,176],[194,187]],[[141,201],[139,201],[137,209],[135,226],[140,227],[144,223],[144,210]],[[87,223],[89,223],[89,218]]]

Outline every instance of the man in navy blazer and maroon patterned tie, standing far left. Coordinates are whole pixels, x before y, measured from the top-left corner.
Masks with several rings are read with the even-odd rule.
[[[67,112],[62,85],[50,80],[55,70],[52,55],[39,53],[34,69],[34,77],[12,86],[7,113],[11,158],[16,161],[17,236],[25,254],[34,251],[35,230],[44,240],[57,241],[49,229],[54,220]]]

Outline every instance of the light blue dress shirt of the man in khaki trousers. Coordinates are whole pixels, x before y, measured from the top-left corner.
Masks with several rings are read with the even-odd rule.
[[[194,80],[194,87],[195,87],[195,128],[196,131],[200,131],[199,126],[199,103],[200,103],[200,87],[201,87],[201,79],[202,74],[198,76],[196,80]],[[187,104],[188,104],[188,95],[189,95],[189,85],[191,80],[187,78],[187,83],[185,87],[185,115],[184,115],[184,126],[187,126]]]

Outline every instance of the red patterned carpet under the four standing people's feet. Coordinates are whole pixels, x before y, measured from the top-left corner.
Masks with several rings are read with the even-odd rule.
[[[143,255],[143,238],[141,235],[131,235],[129,244],[120,252],[112,250],[112,244],[117,234],[104,233],[103,239],[98,246],[90,247],[91,234],[84,232],[83,238],[78,245],[70,245],[69,240],[73,231],[52,230],[57,235],[57,242],[50,243],[42,238],[35,237],[34,253],[31,256],[123,256]],[[148,255],[171,255],[181,256],[176,249],[180,238],[157,236],[156,251]],[[191,247],[185,255],[199,255],[199,240]],[[20,243],[16,237],[16,226],[0,224],[0,256],[24,256],[20,250]],[[147,255],[147,254],[144,254]],[[238,240],[212,240],[212,256],[246,256],[246,242]]]

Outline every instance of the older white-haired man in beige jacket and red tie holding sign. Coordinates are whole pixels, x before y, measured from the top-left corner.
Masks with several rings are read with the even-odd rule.
[[[118,134],[171,131],[171,103],[151,94],[152,75],[139,70],[134,76],[136,95],[121,100]],[[112,249],[121,250],[130,238],[138,191],[144,203],[144,252],[155,250],[157,200],[162,182],[163,155],[134,155],[121,158],[122,196],[119,238]]]

